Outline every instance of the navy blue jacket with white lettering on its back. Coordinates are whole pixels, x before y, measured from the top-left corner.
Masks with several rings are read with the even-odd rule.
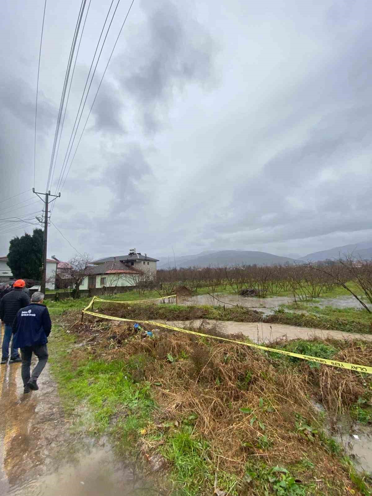
[[[47,307],[41,303],[31,303],[19,310],[13,321],[14,348],[47,344],[51,328]]]

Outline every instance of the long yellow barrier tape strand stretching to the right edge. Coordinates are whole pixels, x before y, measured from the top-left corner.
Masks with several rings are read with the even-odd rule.
[[[133,320],[131,318],[114,317],[112,315],[104,315],[103,313],[96,313],[88,311],[88,309],[93,305],[94,300],[99,300],[99,298],[93,297],[89,305],[83,310],[83,313],[88,315],[93,315],[94,317],[107,318],[110,320],[123,320],[124,322],[140,322],[142,324],[151,324],[157,327],[164,327],[165,329],[172,329],[174,331],[186,332],[187,334],[195,334],[196,336],[202,336],[206,338],[221,339],[222,341],[228,341],[229,343],[243,344],[245,346],[250,346],[251,348],[257,348],[264,351],[272,351],[275,353],[280,353],[282,355],[287,355],[289,357],[301,358],[302,360],[309,360],[310,362],[316,362],[322,365],[331,365],[332,367],[338,367],[340,369],[349,369],[357,372],[367,372],[372,373],[372,367],[367,367],[364,365],[349,364],[346,362],[335,362],[333,360],[328,360],[326,358],[310,357],[308,355],[301,355],[300,353],[292,353],[290,351],[277,350],[275,348],[267,348],[266,346],[260,346],[258,344],[246,343],[244,341],[237,341],[236,339],[221,338],[218,336],[210,336],[209,334],[203,334],[202,332],[189,331],[187,329],[181,329],[180,327],[174,327],[172,325],[161,324],[160,322],[155,322],[153,320]],[[104,300],[107,301],[107,300]],[[127,303],[127,302],[124,302]]]

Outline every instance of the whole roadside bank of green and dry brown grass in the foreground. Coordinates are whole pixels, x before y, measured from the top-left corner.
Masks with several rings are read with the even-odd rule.
[[[64,315],[70,333],[60,328],[51,343],[58,344],[54,372],[66,404],[76,413],[84,402],[93,412],[83,415],[90,432],[110,432],[145,467],[164,463],[163,483],[173,494],[210,495],[215,477],[230,495],[370,494],[310,403],[321,401],[331,416],[359,418],[360,410],[369,422],[370,376],[212,338],[141,337],[131,324],[93,317],[71,328],[76,316]],[[372,363],[369,343],[277,346]]]

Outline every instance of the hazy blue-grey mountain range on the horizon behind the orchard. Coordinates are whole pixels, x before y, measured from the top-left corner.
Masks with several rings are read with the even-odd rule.
[[[339,258],[342,255],[353,253],[355,258],[372,259],[372,241],[364,241],[354,245],[344,245],[342,247],[330,248],[323,251],[315,251],[305,256],[278,256],[264,251],[245,251],[245,250],[206,250],[195,255],[163,257],[160,259],[158,268],[168,269],[176,267],[208,267],[226,266],[235,264],[244,265],[273,265],[284,263],[299,263],[303,261],[316,262],[326,259]],[[291,253],[292,254],[292,253]]]

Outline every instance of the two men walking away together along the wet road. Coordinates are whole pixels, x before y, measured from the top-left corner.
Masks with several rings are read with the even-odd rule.
[[[4,324],[2,338],[1,365],[22,362],[21,374],[23,391],[39,389],[37,379],[48,361],[48,336],[52,322],[47,307],[43,304],[44,294],[37,291],[32,294],[31,301],[25,289],[25,281],[18,279],[11,290],[0,294],[0,320]],[[21,350],[19,356],[18,349]],[[31,374],[32,354],[38,363]]]

